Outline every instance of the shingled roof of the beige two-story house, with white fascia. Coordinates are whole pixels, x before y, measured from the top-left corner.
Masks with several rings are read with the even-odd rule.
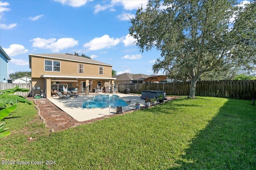
[[[112,66],[110,64],[102,63],[100,61],[88,59],[86,57],[81,57],[72,54],[29,54],[29,67],[31,68],[31,56],[49,58],[49,59],[61,59],[66,61],[78,61],[80,63],[90,63],[90,64],[100,64],[105,66]]]

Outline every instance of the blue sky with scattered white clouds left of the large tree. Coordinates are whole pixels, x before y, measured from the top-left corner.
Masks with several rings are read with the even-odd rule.
[[[146,4],[147,0],[1,0],[0,45],[11,58],[8,71],[31,71],[28,54],[76,52],[113,65],[117,74],[151,75],[160,52],[141,53],[128,35],[128,16]]]

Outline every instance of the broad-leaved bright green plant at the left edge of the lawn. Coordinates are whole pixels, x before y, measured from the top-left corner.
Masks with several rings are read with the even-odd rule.
[[[25,97],[14,95],[15,92],[29,92],[29,89],[16,86],[15,88],[0,91],[0,121],[16,109],[18,102],[32,104]],[[9,128],[4,129],[4,125],[5,123],[0,123],[0,138],[10,135]]]

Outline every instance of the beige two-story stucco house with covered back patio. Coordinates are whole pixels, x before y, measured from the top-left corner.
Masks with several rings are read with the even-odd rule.
[[[112,65],[72,54],[29,54],[32,94],[40,90],[51,97],[51,90],[78,88],[93,92],[96,88],[112,87]]]

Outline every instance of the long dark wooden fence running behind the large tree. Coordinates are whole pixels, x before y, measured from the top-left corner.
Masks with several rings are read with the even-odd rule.
[[[164,90],[167,95],[188,96],[190,82],[147,83],[147,84],[116,84],[119,92],[126,88],[131,93],[141,93],[142,90]],[[212,96],[221,98],[256,98],[256,80],[217,80],[198,81],[196,96]]]

